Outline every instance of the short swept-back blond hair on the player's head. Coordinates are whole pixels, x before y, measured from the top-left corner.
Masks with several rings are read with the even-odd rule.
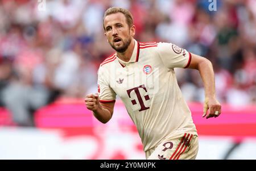
[[[126,23],[128,24],[129,27],[133,26],[133,15],[131,15],[131,12],[129,10],[126,9],[122,9],[120,7],[110,7],[108,10],[105,11],[104,13],[104,18],[103,18],[103,27],[105,30],[105,26],[104,26],[104,20],[106,18],[106,16],[110,15],[110,14],[116,14],[118,12],[121,12],[123,15],[125,15],[126,18]]]

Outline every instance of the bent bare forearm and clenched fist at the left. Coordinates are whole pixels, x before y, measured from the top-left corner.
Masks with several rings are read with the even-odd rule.
[[[85,97],[85,105],[87,109],[93,111],[95,118],[107,123],[112,118],[115,102],[100,103],[98,94],[88,94]]]

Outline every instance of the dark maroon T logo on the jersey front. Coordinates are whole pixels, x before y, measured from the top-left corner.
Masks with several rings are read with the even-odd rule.
[[[143,111],[143,110],[150,109],[150,107],[146,107],[146,106],[144,105],[143,99],[142,99],[142,97],[141,97],[141,94],[139,93],[139,89],[144,89],[144,90],[147,92],[147,89],[146,89],[145,85],[140,85],[140,86],[135,87],[135,88],[133,88],[133,89],[127,90],[127,93],[128,93],[128,95],[129,95],[129,98],[131,98],[131,91],[134,90],[135,93],[136,93],[136,95],[137,95],[137,98],[138,98],[138,101],[139,101],[139,105],[141,105],[141,109],[140,109],[139,111]],[[149,97],[148,95],[145,95],[144,98],[145,98],[146,101],[148,101],[148,100],[150,99],[150,97]],[[133,99],[133,100],[131,101],[131,103],[132,103],[133,105],[136,105],[136,104],[137,104],[137,101],[136,101],[135,99]]]

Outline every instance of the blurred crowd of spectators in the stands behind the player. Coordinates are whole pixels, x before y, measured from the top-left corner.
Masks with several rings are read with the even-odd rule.
[[[255,105],[255,0],[0,0],[0,106],[18,125],[34,126],[34,112],[59,97],[97,91],[98,66],[114,52],[102,26],[111,6],[131,11],[138,41],[212,61],[221,103]],[[203,102],[200,74],[175,70],[185,99]]]

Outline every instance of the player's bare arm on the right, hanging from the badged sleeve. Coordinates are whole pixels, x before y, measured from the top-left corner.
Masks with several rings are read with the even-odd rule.
[[[204,82],[205,102],[203,117],[206,116],[207,119],[216,118],[221,114],[221,105],[216,99],[212,62],[204,57],[191,53],[191,63],[188,68],[199,70]],[[208,109],[209,112],[207,112]]]

